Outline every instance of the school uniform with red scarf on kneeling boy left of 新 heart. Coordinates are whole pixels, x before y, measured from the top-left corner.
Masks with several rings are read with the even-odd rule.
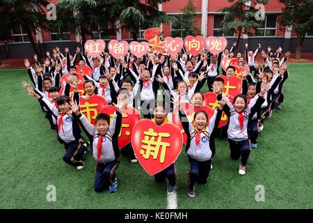
[[[122,114],[115,112],[108,132],[99,134],[86,116],[79,114],[79,123],[89,138],[93,138],[93,157],[97,161],[94,189],[102,192],[107,185],[112,185],[115,180],[115,171],[120,164],[118,157],[118,134],[122,126]]]

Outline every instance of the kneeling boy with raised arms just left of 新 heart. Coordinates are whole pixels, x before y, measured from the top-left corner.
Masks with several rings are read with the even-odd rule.
[[[125,100],[118,98],[118,104],[113,104],[118,110],[113,114],[110,125],[110,116],[100,113],[96,117],[95,126],[92,125],[86,116],[79,112],[77,103],[72,104],[73,112],[79,118],[79,123],[88,137],[93,137],[93,157],[97,160],[95,175],[95,192],[104,191],[106,185],[109,185],[109,192],[118,190],[118,178],[115,177],[115,171],[120,164],[118,157],[120,150],[118,148],[118,134],[122,126],[122,108],[125,106]]]

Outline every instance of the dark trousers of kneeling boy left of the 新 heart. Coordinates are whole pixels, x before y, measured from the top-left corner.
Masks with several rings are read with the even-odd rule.
[[[106,164],[97,163],[94,189],[102,192],[106,187],[112,185],[115,179],[115,170],[118,169],[120,161],[112,161]]]

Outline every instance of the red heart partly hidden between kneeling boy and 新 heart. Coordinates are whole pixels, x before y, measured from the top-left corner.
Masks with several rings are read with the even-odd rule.
[[[105,113],[112,119],[116,107],[112,105],[104,106],[99,113]],[[122,110],[122,128],[118,135],[118,148],[123,148],[131,142],[131,132],[134,126],[141,120],[141,114],[134,107],[126,107]]]

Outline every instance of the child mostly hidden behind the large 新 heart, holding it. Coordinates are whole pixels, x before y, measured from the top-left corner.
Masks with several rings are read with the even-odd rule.
[[[154,118],[152,118],[152,121],[158,126],[168,123],[168,118],[166,118],[166,108],[161,101],[156,103],[153,116]],[[176,190],[177,179],[176,162],[173,162],[169,167],[163,169],[163,171],[159,172],[158,174],[155,174],[154,177],[157,182],[162,182],[165,180],[165,178],[168,178],[168,186],[166,187],[166,191],[169,195],[174,194]]]

